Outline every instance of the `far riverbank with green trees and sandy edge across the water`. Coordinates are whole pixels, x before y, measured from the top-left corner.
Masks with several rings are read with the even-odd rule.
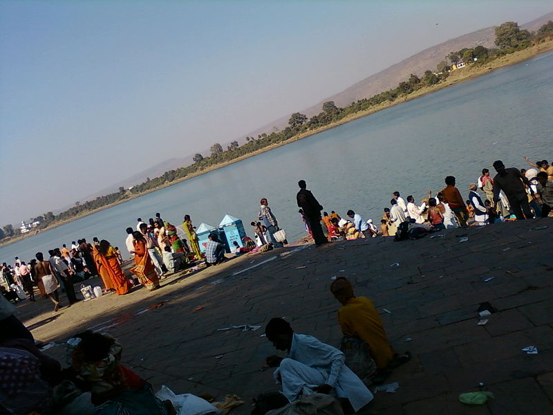
[[[536,33],[521,30],[514,22],[505,22],[496,27],[495,35],[497,48],[476,46],[452,51],[435,71],[429,69],[420,77],[411,74],[408,80],[400,82],[395,89],[352,102],[343,108],[337,107],[333,101],[324,102],[321,112],[310,118],[299,112],[292,113],[288,127],[282,130],[273,127],[273,131],[259,134],[257,138],[246,137],[243,145],[235,140],[225,150],[221,144],[215,143],[209,156],[195,154],[191,165],[169,170],[153,179],[147,178],[129,189],[120,187],[118,192],[97,196],[91,201],[77,201],[73,207],[57,215],[53,212],[39,215],[31,219],[31,222],[38,224],[30,232],[21,233],[19,228],[13,228],[11,224],[4,225],[0,228],[0,246],[553,49],[553,21],[548,21]]]

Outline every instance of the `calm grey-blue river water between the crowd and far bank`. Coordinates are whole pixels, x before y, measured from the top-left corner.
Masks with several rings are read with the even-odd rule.
[[[553,53],[545,53],[12,243],[0,260],[26,261],[83,237],[108,239],[126,256],[125,228],[156,212],[174,225],[190,214],[196,226],[229,213],[252,236],[262,197],[292,241],[305,234],[301,178],[329,213],[353,209],[378,223],[395,190],[420,201],[453,175],[468,194],[494,160],[527,167],[523,156],[551,158],[552,108]]]

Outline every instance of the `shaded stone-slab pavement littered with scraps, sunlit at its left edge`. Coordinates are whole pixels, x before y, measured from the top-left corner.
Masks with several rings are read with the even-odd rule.
[[[104,295],[55,320],[44,299],[37,304],[47,311],[30,317],[25,304],[19,316],[43,341],[90,327],[110,333],[123,344],[123,362],[156,389],[219,399],[232,393],[251,402],[276,389],[270,371],[261,370],[265,356],[275,353],[261,336],[271,317],[339,344],[339,304],[328,287],[344,275],[357,295],[373,299],[396,351],[413,354],[386,380],[399,382],[397,392],[377,392],[371,412],[553,414],[552,236],[553,219],[539,219],[418,241],[296,246],[177,275],[154,293]],[[479,326],[483,302],[497,311]],[[262,327],[229,329],[244,324]],[[538,354],[521,350],[529,345]],[[65,359],[62,346],[46,353]],[[460,403],[458,395],[477,391],[480,382],[495,398],[476,407]],[[250,410],[242,405],[232,414]]]

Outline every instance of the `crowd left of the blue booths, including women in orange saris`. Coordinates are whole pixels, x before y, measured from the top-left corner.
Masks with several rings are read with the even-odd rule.
[[[35,301],[35,288],[39,295],[50,299],[54,311],[62,306],[59,291],[66,293],[68,306],[78,302],[73,284],[100,277],[103,293],[124,295],[131,288],[142,284],[149,291],[160,287],[160,279],[167,273],[176,273],[189,266],[193,261],[201,260],[198,238],[190,216],[185,216],[183,228],[189,236],[178,236],[176,226],[162,221],[160,214],[150,219],[149,224],[138,219],[136,229],[127,228],[126,248],[129,250],[134,266],[130,269],[131,278],[124,273],[124,261],[118,247],[111,246],[105,239],[93,238],[92,243],[79,239],[71,243],[71,249],[63,244],[62,248],[48,250],[50,257],[44,260],[44,254],[37,252],[34,259],[26,263],[15,257],[15,263],[1,266],[1,292],[10,302],[23,299]]]

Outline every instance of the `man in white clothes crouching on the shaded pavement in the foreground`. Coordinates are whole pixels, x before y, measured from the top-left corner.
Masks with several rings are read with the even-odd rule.
[[[294,334],[290,324],[278,317],[268,322],[265,335],[278,350],[288,351],[287,358],[270,356],[267,363],[278,367],[274,377],[290,402],[316,392],[332,391],[339,398],[347,398],[358,412],[373,400],[371,391],[344,365],[344,353],[335,347],[310,335]]]

